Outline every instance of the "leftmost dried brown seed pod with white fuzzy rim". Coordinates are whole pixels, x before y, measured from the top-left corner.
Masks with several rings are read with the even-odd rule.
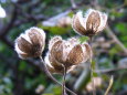
[[[45,33],[39,28],[30,28],[15,40],[15,51],[21,59],[38,57],[45,45]]]

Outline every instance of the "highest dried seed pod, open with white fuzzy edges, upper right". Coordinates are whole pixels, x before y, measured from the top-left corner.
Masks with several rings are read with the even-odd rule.
[[[107,14],[89,9],[85,15],[80,11],[73,17],[72,27],[81,35],[93,36],[104,30],[107,22]]]

